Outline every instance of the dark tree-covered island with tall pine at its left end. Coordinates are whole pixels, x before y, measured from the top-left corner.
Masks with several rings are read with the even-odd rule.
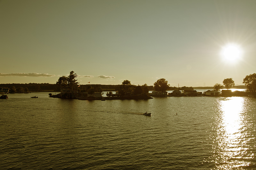
[[[77,74],[71,71],[69,76],[62,76],[56,82],[60,87],[60,93],[56,95],[50,95],[50,97],[57,98],[72,98],[79,100],[124,100],[124,99],[136,99],[136,100],[147,100],[152,99],[149,96],[148,86],[144,84],[142,86],[132,85],[131,81],[124,80],[117,89],[108,91],[106,96],[103,98],[103,91],[98,85],[78,85],[76,80]],[[90,83],[90,82],[89,82]]]

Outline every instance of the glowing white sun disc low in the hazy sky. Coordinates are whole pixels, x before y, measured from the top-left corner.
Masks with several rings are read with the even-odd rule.
[[[220,55],[228,62],[236,62],[242,57],[243,50],[236,43],[229,43],[222,47]]]

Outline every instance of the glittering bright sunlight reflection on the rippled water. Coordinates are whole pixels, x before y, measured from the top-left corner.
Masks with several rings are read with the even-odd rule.
[[[249,166],[246,159],[253,158],[248,153],[247,137],[244,128],[244,97],[226,97],[218,101],[219,120],[217,121],[216,144],[213,145],[217,169],[239,169]],[[217,156],[218,155],[218,156]],[[243,157],[241,157],[243,155]]]

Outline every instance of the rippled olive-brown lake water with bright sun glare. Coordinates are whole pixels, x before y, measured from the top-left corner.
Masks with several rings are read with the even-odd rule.
[[[256,98],[8,97],[0,169],[256,169]]]

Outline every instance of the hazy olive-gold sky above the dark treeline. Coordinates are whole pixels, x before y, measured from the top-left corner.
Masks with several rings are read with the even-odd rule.
[[[0,83],[56,83],[74,71],[80,84],[243,85],[256,73],[255,9],[255,0],[0,0]],[[232,60],[221,52],[230,43],[240,48]]]

